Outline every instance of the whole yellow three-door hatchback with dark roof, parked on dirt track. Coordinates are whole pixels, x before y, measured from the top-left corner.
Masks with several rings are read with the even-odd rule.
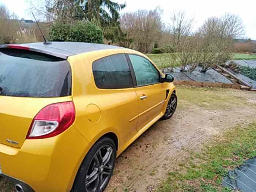
[[[117,46],[0,45],[0,176],[17,192],[102,192],[115,158],[173,115],[173,80]]]

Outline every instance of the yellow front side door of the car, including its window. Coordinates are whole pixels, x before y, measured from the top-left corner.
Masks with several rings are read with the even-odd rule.
[[[166,90],[161,83],[158,69],[145,57],[128,54],[132,65],[139,98],[139,117],[137,131],[161,117]]]

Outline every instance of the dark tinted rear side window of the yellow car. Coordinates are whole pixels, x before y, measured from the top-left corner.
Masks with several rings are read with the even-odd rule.
[[[133,87],[131,71],[125,54],[111,55],[94,61],[93,75],[99,89]]]

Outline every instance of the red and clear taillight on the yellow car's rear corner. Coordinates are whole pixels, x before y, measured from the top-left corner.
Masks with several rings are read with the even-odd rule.
[[[54,103],[43,108],[33,119],[27,139],[43,139],[59,135],[75,120],[72,101]]]

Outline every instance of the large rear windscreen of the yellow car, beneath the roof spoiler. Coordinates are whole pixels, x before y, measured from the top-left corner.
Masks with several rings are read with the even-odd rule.
[[[67,60],[22,49],[0,49],[0,95],[64,97],[71,95]]]

